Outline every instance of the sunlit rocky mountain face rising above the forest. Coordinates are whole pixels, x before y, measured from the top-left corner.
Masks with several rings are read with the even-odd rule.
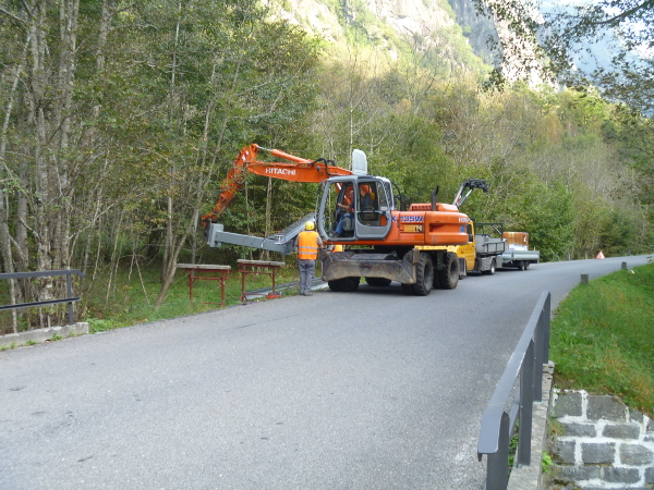
[[[481,62],[497,65],[500,40],[501,72],[509,81],[521,78],[532,86],[550,83],[542,76],[533,46],[519,39],[508,24],[479,14],[473,0],[262,1],[274,16],[299,24],[328,42],[365,45],[393,60],[401,56],[402,46],[410,46],[417,50],[435,48],[437,57],[451,65],[468,63],[470,68],[467,52],[476,56],[473,64],[477,68]],[[537,10],[534,15],[540,15]]]

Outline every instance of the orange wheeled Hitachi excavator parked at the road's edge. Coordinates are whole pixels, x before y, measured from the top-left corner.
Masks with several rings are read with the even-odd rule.
[[[257,161],[258,150],[289,162]],[[351,171],[332,163],[258,145],[243,148],[222,183],[213,212],[202,218],[208,244],[230,243],[289,254],[304,223],[315,220],[325,244],[348,245],[344,252],[320,250],[323,280],[332,291],[355,291],[361,278],[372,286],[397,281],[405,294],[419,296],[426,296],[434,286],[455,289],[459,280],[457,255],[419,247],[467,244],[472,240],[467,230],[470,218],[456,205],[436,203],[438,188],[432,193],[432,203],[408,207],[395,183],[367,174],[366,157],[361,150],[352,155]],[[245,171],[294,182],[319,182],[317,209],[265,238],[225,232],[217,218],[242,187]]]

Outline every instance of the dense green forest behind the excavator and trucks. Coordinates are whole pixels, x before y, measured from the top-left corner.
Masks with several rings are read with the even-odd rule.
[[[0,42],[2,272],[92,282],[154,262],[160,304],[181,258],[258,258],[209,249],[199,224],[251,143],[341,167],[362,149],[414,203],[484,179],[464,211],[529,232],[544,260],[654,246],[651,120],[592,87],[492,84],[483,63],[416,39],[397,60],[355,44],[335,56],[249,0],[5,1]],[[221,221],[263,236],[316,191],[252,175]],[[5,283],[15,302],[59,287]]]

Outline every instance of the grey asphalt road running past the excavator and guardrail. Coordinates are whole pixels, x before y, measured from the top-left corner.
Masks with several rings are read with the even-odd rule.
[[[543,291],[319,292],[0,353],[0,489],[481,489],[480,422]]]

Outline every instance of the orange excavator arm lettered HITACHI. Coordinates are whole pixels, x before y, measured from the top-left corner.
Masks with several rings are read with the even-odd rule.
[[[274,157],[288,161],[258,161],[256,157],[259,150],[268,151]],[[215,223],[230,203],[234,200],[237,194],[245,184],[245,172],[292,182],[322,182],[330,176],[352,174],[350,170],[336,167],[331,161],[324,158],[307,160],[278,149],[268,149],[252,144],[241,149],[229,172],[227,172],[225,180],[220,184],[220,195],[214,206],[214,210],[202,217],[202,223],[205,229],[210,223]]]

